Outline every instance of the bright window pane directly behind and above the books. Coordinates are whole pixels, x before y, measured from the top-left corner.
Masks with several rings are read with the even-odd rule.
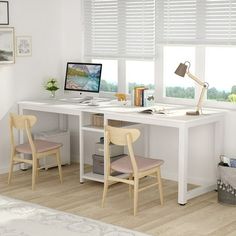
[[[126,81],[129,93],[137,85],[144,85],[154,90],[154,62],[126,61]]]

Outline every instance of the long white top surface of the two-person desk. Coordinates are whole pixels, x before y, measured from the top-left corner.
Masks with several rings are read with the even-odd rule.
[[[194,108],[186,106],[157,103],[151,107],[156,112],[153,114],[144,114],[140,111],[148,109],[147,107],[132,107],[122,103],[100,102],[98,106],[89,106],[88,104],[68,103],[56,99],[32,100],[18,102],[20,109],[53,112],[69,115],[80,115],[81,112],[103,113],[107,119],[127,120],[148,124],[199,124],[215,122],[224,116],[224,111],[219,109],[203,109],[200,116],[186,115],[186,111]]]

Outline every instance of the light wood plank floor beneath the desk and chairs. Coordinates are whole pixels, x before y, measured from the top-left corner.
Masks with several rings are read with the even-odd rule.
[[[138,215],[132,215],[128,186],[110,188],[105,208],[101,208],[103,185],[92,181],[79,183],[79,166],[63,167],[64,183],[57,169],[40,172],[36,190],[31,190],[31,171],[17,171],[7,186],[7,175],[0,175],[0,194],[37,203],[57,210],[86,216],[150,235],[160,236],[235,236],[236,207],[217,203],[217,193],[177,204],[177,183],[164,180],[164,206],[159,205],[157,189],[140,193]],[[145,181],[152,181],[146,178]],[[145,183],[144,183],[145,184]]]

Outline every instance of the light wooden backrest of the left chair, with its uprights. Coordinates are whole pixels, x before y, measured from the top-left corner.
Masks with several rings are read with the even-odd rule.
[[[32,153],[35,152],[35,145],[33,142],[31,128],[36,123],[37,118],[32,115],[16,115],[10,114],[9,125],[10,125],[10,137],[11,137],[11,145],[12,148],[15,149],[15,140],[13,128],[19,129],[26,132],[26,136],[28,138]]]

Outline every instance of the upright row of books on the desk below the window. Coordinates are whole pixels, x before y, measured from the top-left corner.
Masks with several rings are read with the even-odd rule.
[[[154,91],[144,86],[134,88],[134,106],[148,107],[154,105]]]

